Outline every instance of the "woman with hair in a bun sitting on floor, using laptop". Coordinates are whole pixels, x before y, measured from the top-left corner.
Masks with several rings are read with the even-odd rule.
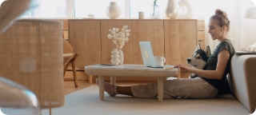
[[[230,60],[234,56],[234,47],[227,33],[230,30],[230,21],[222,10],[215,10],[210,17],[208,33],[213,40],[218,40],[214,53],[207,61],[206,70],[193,69],[186,65],[175,65],[187,72],[195,73],[195,78],[180,78],[164,81],[163,98],[214,98],[219,90],[226,89],[226,75],[230,70]],[[98,80],[96,81],[98,84]],[[117,86],[105,83],[105,91],[111,97],[116,94],[124,94],[133,97],[158,97],[157,82],[146,85]]]

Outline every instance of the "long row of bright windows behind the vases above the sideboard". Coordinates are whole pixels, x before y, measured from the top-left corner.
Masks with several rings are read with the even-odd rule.
[[[4,0],[0,0],[2,3]],[[143,11],[145,18],[150,18],[150,10],[154,0],[38,0],[40,6],[24,14],[23,18],[87,18],[94,14],[95,18],[108,18],[106,7],[110,2],[118,2],[122,14],[119,18],[138,18],[138,12]],[[188,0],[193,9],[193,18],[204,19],[205,0]],[[256,0],[252,0],[256,1]],[[168,0],[158,0],[157,5],[163,11]],[[177,0],[179,2],[179,0]]]

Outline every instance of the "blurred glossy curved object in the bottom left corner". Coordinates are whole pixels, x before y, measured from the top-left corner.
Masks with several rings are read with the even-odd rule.
[[[41,114],[36,95],[24,86],[0,77],[0,91],[1,108],[26,109],[26,115]],[[21,115],[22,113],[19,114]]]

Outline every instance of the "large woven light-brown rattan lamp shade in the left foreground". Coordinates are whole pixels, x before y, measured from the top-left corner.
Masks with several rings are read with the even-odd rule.
[[[42,109],[65,102],[62,25],[23,19],[0,35],[0,75],[35,93]]]

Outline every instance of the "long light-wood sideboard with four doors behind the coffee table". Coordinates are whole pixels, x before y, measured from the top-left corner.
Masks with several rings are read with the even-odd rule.
[[[198,43],[196,19],[69,19],[69,42],[79,53],[76,66],[111,63],[111,51],[116,48],[107,38],[109,30],[128,26],[129,41],[123,46],[124,64],[143,64],[138,42],[151,42],[154,55],[166,57],[166,65],[186,64]],[[141,78],[142,79],[142,78]],[[134,77],[117,80],[140,81]],[[143,81],[152,81],[143,78]]]

